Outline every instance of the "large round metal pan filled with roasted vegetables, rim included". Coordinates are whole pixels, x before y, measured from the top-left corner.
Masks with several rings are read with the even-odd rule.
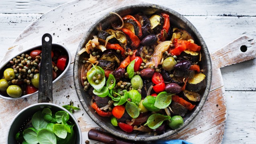
[[[177,12],[154,4],[113,10],[81,41],[74,64],[88,115],[118,137],[147,141],[195,118],[211,83],[201,35]]]

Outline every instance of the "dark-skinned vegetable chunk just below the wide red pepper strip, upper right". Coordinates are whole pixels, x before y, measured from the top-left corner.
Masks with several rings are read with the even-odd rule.
[[[184,50],[179,55],[179,58],[187,59],[191,63],[197,63],[199,61],[199,52],[195,52],[192,50]]]

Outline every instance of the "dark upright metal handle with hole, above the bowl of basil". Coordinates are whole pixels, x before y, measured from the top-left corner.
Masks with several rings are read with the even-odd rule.
[[[49,38],[48,41],[45,38]],[[42,37],[42,58],[39,70],[39,96],[38,103],[53,103],[53,68],[51,61],[51,34],[44,34]]]

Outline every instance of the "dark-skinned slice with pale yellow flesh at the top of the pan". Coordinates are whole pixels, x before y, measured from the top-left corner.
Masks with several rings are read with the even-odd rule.
[[[163,29],[165,18],[155,14],[151,16],[149,20],[154,34],[158,34]]]

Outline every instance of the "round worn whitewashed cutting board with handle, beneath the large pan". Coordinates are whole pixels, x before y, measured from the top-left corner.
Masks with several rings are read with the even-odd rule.
[[[106,12],[134,3],[141,3],[141,1],[122,0],[121,2],[120,0],[112,0],[99,4],[98,0],[76,0],[63,4],[30,24],[15,40],[13,47],[6,52],[3,60],[15,56],[27,48],[41,44],[43,34],[51,34],[53,43],[65,45],[72,56],[71,66],[67,73],[53,84],[53,103],[62,106],[69,104],[69,101],[72,100],[75,106],[81,106],[73,83],[73,62],[81,38],[91,24]],[[240,50],[243,45],[247,46],[246,52]],[[226,122],[226,99],[220,68],[255,58],[255,49],[253,38],[243,35],[211,54],[213,77],[205,105],[187,127],[167,139],[183,139],[197,144],[221,143]],[[6,136],[14,116],[23,108],[37,103],[37,96],[35,94],[15,101],[0,99],[0,135]],[[88,131],[99,126],[89,118],[83,109],[73,115],[79,121],[84,143],[85,140],[88,140]],[[1,138],[0,143],[5,143],[5,140],[5,137]],[[90,142],[90,144],[93,143],[95,141]]]

